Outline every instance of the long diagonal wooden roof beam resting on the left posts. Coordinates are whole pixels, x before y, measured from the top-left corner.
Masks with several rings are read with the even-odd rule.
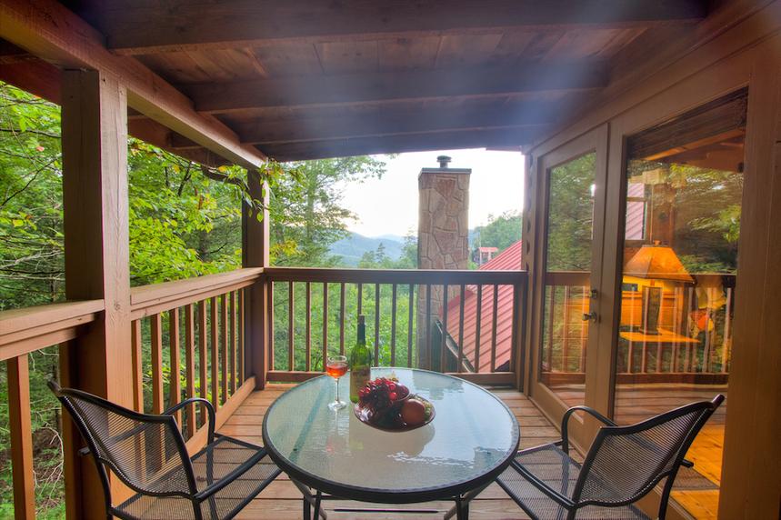
[[[145,65],[110,53],[102,35],[55,0],[0,0],[0,37],[61,68],[116,76],[127,87],[128,105],[233,163],[254,167],[265,161],[215,118],[196,113],[185,95]]]

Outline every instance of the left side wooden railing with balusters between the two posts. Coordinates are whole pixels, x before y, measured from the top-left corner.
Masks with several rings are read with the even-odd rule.
[[[159,414],[198,396],[215,405],[217,427],[225,422],[255,389],[245,363],[245,290],[262,272],[238,269],[131,290],[136,410]],[[184,421],[177,415],[190,449],[205,439],[204,413],[193,406],[183,410]]]

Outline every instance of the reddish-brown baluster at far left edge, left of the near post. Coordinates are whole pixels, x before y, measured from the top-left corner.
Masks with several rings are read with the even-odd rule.
[[[35,518],[33,425],[30,414],[30,369],[26,354],[5,362],[8,376],[8,420],[15,518]]]

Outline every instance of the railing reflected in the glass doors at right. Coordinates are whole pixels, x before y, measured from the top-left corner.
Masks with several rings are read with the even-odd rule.
[[[663,293],[662,335],[636,331],[642,295],[624,291],[621,302],[616,380],[619,383],[724,383],[732,346],[734,275],[692,275],[695,285]],[[589,274],[546,275],[542,376],[549,383],[585,380]]]

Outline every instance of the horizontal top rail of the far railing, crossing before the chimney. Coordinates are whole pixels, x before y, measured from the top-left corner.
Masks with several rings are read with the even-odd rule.
[[[272,282],[333,282],[353,284],[498,284],[526,283],[526,271],[461,271],[436,269],[334,269],[312,267],[266,267]]]

